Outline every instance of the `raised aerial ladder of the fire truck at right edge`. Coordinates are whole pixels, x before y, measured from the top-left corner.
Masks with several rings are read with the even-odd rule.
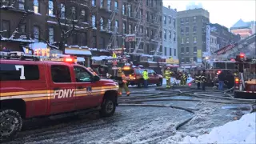
[[[237,54],[240,50],[246,49],[248,46],[254,45],[256,41],[256,34],[252,34],[247,38],[240,40],[239,42],[235,43],[234,45],[229,45],[221,50],[217,50],[214,54],[214,58],[227,58],[230,55]],[[255,48],[255,47],[254,47]]]

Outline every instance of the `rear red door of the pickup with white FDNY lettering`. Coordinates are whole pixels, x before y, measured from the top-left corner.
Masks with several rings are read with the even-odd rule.
[[[70,66],[63,64],[50,65],[50,114],[74,110],[74,80]]]

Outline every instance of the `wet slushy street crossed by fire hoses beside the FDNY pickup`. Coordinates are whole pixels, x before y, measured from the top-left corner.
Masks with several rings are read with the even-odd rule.
[[[99,118],[94,112],[26,121],[18,138],[8,143],[170,143],[175,134],[206,134],[214,126],[250,111],[248,104],[207,102],[174,90],[157,94],[161,91],[155,88],[130,88],[132,94],[129,98],[122,96],[120,106],[110,118]],[[208,93],[222,96],[219,92]],[[194,114],[170,106],[183,107]],[[194,118],[190,122],[175,129],[191,116]]]

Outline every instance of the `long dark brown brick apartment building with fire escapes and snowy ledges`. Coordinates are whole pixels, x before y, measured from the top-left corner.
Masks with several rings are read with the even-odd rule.
[[[142,37],[142,53],[153,54],[156,44],[151,36],[162,21],[156,17],[162,15],[162,0],[2,0],[0,10],[1,47],[13,48],[40,41],[106,50],[112,43],[112,48],[124,45],[133,52],[138,41],[125,42],[125,38],[136,32]]]

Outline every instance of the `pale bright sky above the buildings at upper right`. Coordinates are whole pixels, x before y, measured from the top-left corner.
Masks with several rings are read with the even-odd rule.
[[[256,0],[162,0],[164,6],[178,11],[186,10],[191,2],[202,3],[202,8],[210,13],[210,22],[230,28],[240,18],[244,22],[255,21]]]

